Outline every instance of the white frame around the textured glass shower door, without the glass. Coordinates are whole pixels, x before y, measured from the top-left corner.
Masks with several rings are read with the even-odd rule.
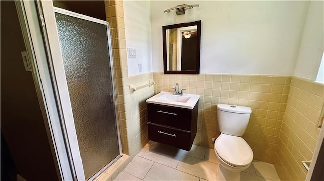
[[[52,148],[53,157],[57,160],[57,171],[61,175],[62,180],[70,180],[71,177],[74,180],[85,180],[85,174],[79,151],[72,107],[65,77],[63,58],[56,27],[55,12],[107,26],[107,42],[109,48],[110,74],[112,81],[119,155],[111,162],[107,163],[107,165],[101,170],[98,170],[98,172],[95,173],[91,178],[89,178],[89,180],[93,180],[99,174],[101,174],[102,171],[107,169],[111,164],[113,164],[113,162],[121,157],[121,141],[116,105],[116,92],[114,87],[115,84],[111,49],[112,44],[109,23],[86,15],[56,8],[53,6],[52,1],[33,2],[23,0],[21,3],[16,5],[17,7],[21,7],[17,8],[17,10],[19,9],[20,11],[20,19],[24,20],[21,21],[23,24],[22,29],[24,28],[23,26],[26,27],[24,33],[28,37],[24,37],[24,39],[25,43],[26,39],[29,40],[29,43],[27,42],[26,45],[30,46],[31,49],[31,52],[28,53],[29,55],[33,55],[33,76],[39,78],[39,84],[35,83],[35,86],[39,86],[43,91],[39,93],[38,97],[44,100],[45,110],[43,114],[44,117],[47,118],[46,121],[49,125],[47,130],[48,135],[50,138],[52,138],[54,145]],[[43,40],[41,40],[42,38]],[[52,86],[48,85],[49,82],[51,82]],[[46,84],[47,86],[44,87]],[[53,100],[53,97],[55,100]],[[57,112],[55,112],[55,109]],[[62,140],[64,143],[62,143]]]

